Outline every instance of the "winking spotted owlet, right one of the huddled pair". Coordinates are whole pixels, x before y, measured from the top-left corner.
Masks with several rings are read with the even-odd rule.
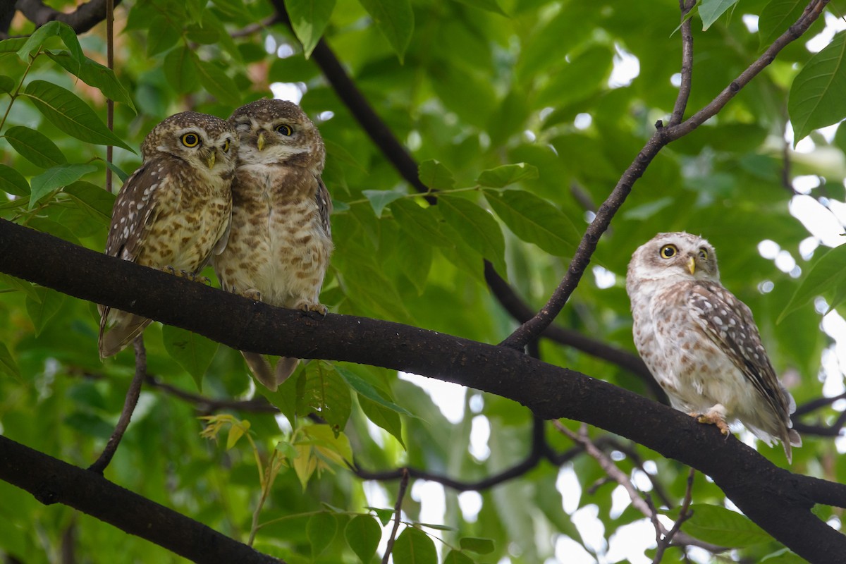
[[[314,123],[290,101],[258,100],[229,122],[240,138],[232,183],[232,231],[213,259],[223,289],[278,307],[326,314],[318,301],[332,253],[332,200],[321,180],[326,150]],[[271,369],[244,352],[250,371],[276,390],[297,359]]]

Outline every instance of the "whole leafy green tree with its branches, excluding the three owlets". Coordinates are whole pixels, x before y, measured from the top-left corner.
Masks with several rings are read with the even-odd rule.
[[[112,3],[0,6],[5,561],[842,559],[846,7]],[[327,146],[331,313],[102,254],[156,123],[274,95]],[[755,313],[792,465],[634,353],[667,231]],[[101,361],[96,304],[161,323]]]

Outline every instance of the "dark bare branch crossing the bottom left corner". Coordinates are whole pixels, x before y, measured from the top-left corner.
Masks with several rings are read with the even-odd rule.
[[[278,564],[272,556],[206,527],[101,474],[63,463],[0,435],[0,479],[45,505],[62,503],[195,562]]]

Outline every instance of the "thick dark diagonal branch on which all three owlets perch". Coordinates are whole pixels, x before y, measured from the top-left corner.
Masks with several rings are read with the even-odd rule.
[[[791,474],[684,413],[513,348],[352,315],[313,319],[83,249],[5,220],[0,220],[0,271],[195,331],[233,348],[409,371],[507,397],[543,419],[567,417],[592,424],[711,476],[748,517],[808,561],[833,564],[846,554],[846,537],[810,511],[816,503],[846,507],[846,485]],[[96,343],[91,342],[91,347]],[[3,479],[13,483],[23,479],[19,474],[32,471],[23,462],[6,468]],[[89,474],[92,480],[102,480]],[[41,487],[34,480],[30,491]],[[96,498],[96,491],[91,495]],[[90,502],[96,505],[98,500]],[[114,518],[89,508],[92,515],[108,522]],[[131,508],[124,505],[121,510],[122,518],[132,518]]]

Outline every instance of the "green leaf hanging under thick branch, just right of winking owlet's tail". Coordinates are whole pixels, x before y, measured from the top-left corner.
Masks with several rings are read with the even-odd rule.
[[[316,413],[332,427],[337,436],[352,413],[353,399],[349,386],[338,371],[327,362],[310,362],[299,376],[302,393],[297,397],[297,413]]]

